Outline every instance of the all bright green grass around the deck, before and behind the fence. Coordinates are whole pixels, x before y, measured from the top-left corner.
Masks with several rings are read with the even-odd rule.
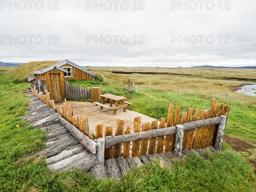
[[[145,75],[146,79],[150,79]],[[102,81],[72,81],[73,84],[84,86],[101,86],[105,93],[125,95],[133,102],[131,109],[149,116],[160,118],[166,116],[170,103],[179,104],[182,110],[188,107],[199,109],[209,108],[210,100],[215,97],[211,85],[206,81],[209,90],[200,88],[200,94],[182,93],[165,90],[171,85],[158,77],[161,86],[154,84],[151,79],[151,88],[148,90],[146,81],[136,83],[139,85],[138,93],[128,93],[125,85],[120,80],[125,78],[113,78],[111,84]],[[127,79],[127,78],[126,78]],[[132,78],[131,78],[132,79]],[[200,78],[201,79],[201,78]],[[154,80],[154,81],[152,81]],[[76,169],[69,172],[54,173],[47,168],[43,158],[27,159],[29,154],[44,148],[47,137],[44,131],[34,129],[24,122],[20,116],[26,113],[29,98],[21,90],[29,89],[28,83],[21,82],[18,76],[10,77],[1,74],[0,79],[0,191],[253,191],[256,177],[253,167],[246,162],[247,158],[254,159],[250,151],[238,154],[229,150],[224,145],[224,151],[218,154],[208,153],[207,160],[201,160],[196,154],[191,154],[184,159],[175,160],[172,168],[166,167],[162,162],[155,161],[142,166],[140,169],[131,169],[122,179],[94,180],[87,173]],[[108,78],[107,81],[110,81]],[[133,80],[132,80],[133,81]],[[139,82],[139,81],[137,81]],[[143,84],[145,82],[145,84]],[[188,80],[187,83],[191,81]],[[196,82],[196,80],[194,81]],[[167,84],[168,83],[168,84]],[[202,83],[204,84],[204,83]],[[157,89],[156,87],[159,86]],[[226,89],[229,85],[221,86]],[[162,88],[161,88],[162,87]],[[195,90],[197,87],[194,87]],[[220,91],[220,88],[217,89]],[[225,93],[225,90],[222,90]],[[198,91],[199,92],[199,91]],[[255,99],[248,96],[239,100],[236,94],[228,102],[232,109],[228,119],[226,133],[241,138],[255,146]],[[241,95],[240,98],[242,98]],[[224,96],[216,96],[218,102],[224,102]],[[232,100],[235,98],[236,100]],[[254,102],[253,102],[254,99]],[[208,107],[207,107],[208,106]],[[18,127],[16,125],[19,125]]]

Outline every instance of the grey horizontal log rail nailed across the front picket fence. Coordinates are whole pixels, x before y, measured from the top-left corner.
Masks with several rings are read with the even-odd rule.
[[[221,122],[221,116],[217,116],[210,119],[204,119],[204,120],[198,120],[194,122],[188,122],[184,123],[183,130],[191,130],[201,127],[206,127],[210,125],[218,125]],[[118,145],[121,143],[128,143],[131,141],[136,140],[142,140],[145,138],[151,138],[151,137],[159,137],[164,135],[170,135],[174,134],[176,132],[176,126],[173,127],[167,127],[167,128],[161,128],[161,129],[155,129],[150,131],[143,131],[133,134],[125,134],[125,135],[118,135],[118,136],[107,136],[105,137],[105,148],[110,148],[114,145]]]

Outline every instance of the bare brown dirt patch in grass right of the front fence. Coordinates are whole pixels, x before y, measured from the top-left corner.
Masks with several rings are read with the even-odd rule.
[[[233,150],[240,152],[240,151],[246,151],[247,149],[255,148],[253,145],[243,141],[239,140],[235,137],[230,137],[227,135],[224,135],[224,141],[230,145],[230,147],[233,148]],[[249,163],[252,164],[254,168],[254,174],[256,175],[256,160],[248,160]]]

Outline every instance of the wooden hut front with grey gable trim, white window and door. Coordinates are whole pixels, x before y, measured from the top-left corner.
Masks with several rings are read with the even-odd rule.
[[[45,79],[46,89],[51,93],[51,99],[59,102],[65,98],[64,80],[93,79],[95,76],[89,70],[66,59],[42,70],[34,70],[34,74],[28,77],[28,81],[32,82],[35,79]]]

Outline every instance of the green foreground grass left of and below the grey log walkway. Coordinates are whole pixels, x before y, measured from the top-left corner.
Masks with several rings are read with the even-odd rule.
[[[172,168],[155,160],[131,169],[122,179],[94,180],[80,169],[54,173],[43,158],[27,158],[42,150],[47,140],[44,131],[20,118],[29,105],[29,97],[20,90],[27,89],[29,84],[9,76],[0,79],[0,191],[253,191],[256,177],[252,166],[230,150],[207,153],[207,160],[191,154],[175,160]],[[121,93],[122,89],[116,91]],[[133,94],[128,96],[134,98]]]

